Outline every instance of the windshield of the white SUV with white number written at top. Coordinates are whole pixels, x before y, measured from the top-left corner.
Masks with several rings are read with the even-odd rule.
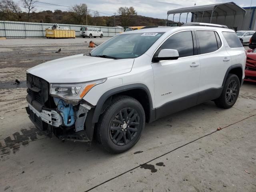
[[[144,54],[163,32],[120,34],[92,50],[90,56],[114,59],[136,58]]]

